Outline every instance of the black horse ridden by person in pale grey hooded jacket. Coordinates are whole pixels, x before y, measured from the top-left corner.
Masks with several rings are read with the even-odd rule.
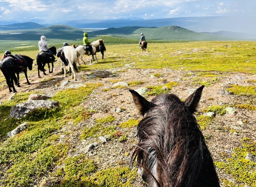
[[[49,50],[56,55],[56,47],[55,46],[52,46],[49,48]],[[37,54],[37,71],[38,71],[38,77],[40,77],[40,73],[39,73],[39,70],[40,71],[43,71],[44,72],[44,75],[47,75],[45,73],[45,69],[44,69],[44,66],[45,64],[48,64],[48,68],[49,68],[49,73],[52,73],[53,72],[53,63],[55,61],[52,60],[51,58],[49,58],[48,54],[45,53],[45,52],[40,52]],[[51,70],[50,70],[50,63],[51,63]]]

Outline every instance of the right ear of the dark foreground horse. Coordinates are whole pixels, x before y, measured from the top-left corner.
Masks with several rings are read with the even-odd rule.
[[[197,90],[184,101],[191,113],[196,111],[204,87],[205,86],[203,85],[197,88]]]

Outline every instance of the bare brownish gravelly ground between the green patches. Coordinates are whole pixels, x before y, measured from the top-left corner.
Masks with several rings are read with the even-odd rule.
[[[33,68],[36,68],[33,67]],[[48,71],[47,71],[48,72]],[[76,87],[85,83],[102,83],[104,86],[96,88],[91,95],[88,96],[81,105],[86,109],[94,109],[97,113],[93,114],[91,118],[79,123],[76,126],[66,124],[58,134],[65,134],[64,138],[60,141],[68,141],[73,145],[70,149],[69,155],[77,155],[84,152],[88,145],[97,142],[95,148],[88,152],[88,157],[95,159],[101,168],[108,166],[117,166],[118,164],[128,165],[131,154],[135,145],[136,127],[122,129],[123,134],[128,134],[127,141],[118,142],[115,140],[107,141],[105,144],[99,141],[88,138],[81,141],[79,135],[84,127],[90,127],[94,124],[94,120],[113,115],[116,117],[115,123],[118,125],[121,122],[126,122],[129,119],[140,119],[138,111],[132,101],[132,97],[128,89],[137,89],[151,85],[164,85],[167,82],[176,81],[179,84],[174,86],[171,90],[172,93],[179,96],[181,99],[186,99],[200,84],[194,84],[195,79],[198,78],[197,73],[193,71],[177,71],[172,69],[133,69],[132,65],[125,67],[111,69],[107,71],[81,71],[78,73],[77,81],[73,81],[71,76],[64,78],[60,73],[60,67],[54,68],[53,74],[42,75],[42,78],[37,77],[37,73],[31,74],[29,80],[31,85],[26,84],[26,79],[21,80],[21,88],[16,88],[17,92],[38,92],[48,96],[55,95],[59,90]],[[242,74],[242,73],[228,73],[216,74],[217,82],[211,86],[205,87],[202,93],[200,106],[198,108],[198,115],[201,115],[202,109],[212,105],[234,105],[248,103],[247,96],[231,95],[226,92],[230,84],[234,85],[255,85],[250,81],[255,80],[255,75]],[[161,74],[160,77],[150,76],[151,74]],[[188,76],[189,75],[189,76]],[[219,76],[220,75],[220,76]],[[51,81],[43,81],[51,78]],[[203,81],[208,81],[211,78],[202,78]],[[66,85],[62,83],[66,80],[69,82]],[[112,88],[114,81],[130,82],[130,81],[143,81],[143,85],[136,85],[133,87],[120,87]],[[0,89],[0,101],[5,101],[10,98],[12,93],[8,92],[7,86]],[[153,96],[148,97],[151,100]],[[255,100],[254,100],[255,106]],[[120,111],[119,109],[125,109]],[[214,125],[210,125],[203,130],[203,134],[207,138],[207,145],[212,153],[215,161],[225,161],[234,152],[235,147],[241,146],[240,140],[243,137],[251,138],[256,141],[256,111],[237,109],[234,114],[226,114],[220,116],[216,114]],[[229,129],[236,130],[236,133],[229,131]],[[63,137],[63,136],[62,136]],[[75,151],[72,151],[75,150]],[[223,156],[225,155],[225,156]],[[230,176],[225,175],[217,170],[220,178],[230,179]],[[140,178],[135,183],[135,186],[143,186]]]

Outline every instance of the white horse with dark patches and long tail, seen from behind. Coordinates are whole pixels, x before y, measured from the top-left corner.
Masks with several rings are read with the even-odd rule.
[[[58,49],[59,51],[59,49]],[[66,66],[71,69],[72,72],[72,78],[74,80],[77,80],[77,73],[78,73],[78,67],[77,67],[77,52],[75,48],[72,46],[64,46],[62,47],[62,52],[60,53],[59,58],[62,61],[62,66],[64,70],[64,77],[66,77]]]

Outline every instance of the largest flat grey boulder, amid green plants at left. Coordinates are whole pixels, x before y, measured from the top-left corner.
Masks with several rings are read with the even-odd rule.
[[[59,102],[50,101],[50,100],[38,100],[38,101],[27,101],[22,102],[18,105],[11,107],[11,112],[9,117],[15,117],[16,119],[20,119],[26,116],[30,111],[38,108],[47,108],[53,109],[55,107],[59,107]]]

